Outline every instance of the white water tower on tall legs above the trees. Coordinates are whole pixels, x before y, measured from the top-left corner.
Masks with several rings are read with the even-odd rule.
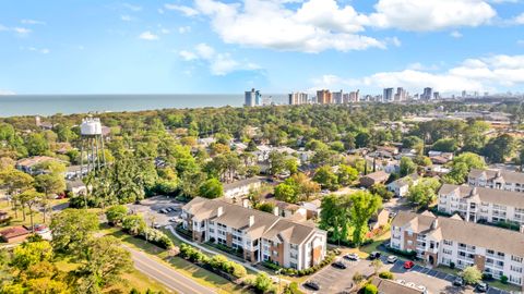
[[[88,173],[99,170],[106,164],[100,119],[91,117],[83,119],[80,125],[80,134],[82,138],[80,146],[80,174],[83,176],[84,172]]]

